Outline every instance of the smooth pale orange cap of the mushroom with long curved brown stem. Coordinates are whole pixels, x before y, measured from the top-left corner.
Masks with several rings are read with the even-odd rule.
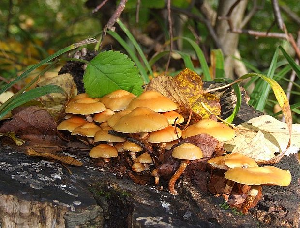
[[[196,145],[183,143],[173,149],[172,157],[184,160],[195,160],[203,158],[203,153]]]

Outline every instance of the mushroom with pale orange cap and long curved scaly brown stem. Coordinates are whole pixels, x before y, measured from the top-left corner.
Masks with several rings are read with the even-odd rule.
[[[194,144],[183,143],[173,149],[172,157],[183,160],[179,168],[177,169],[177,171],[173,174],[173,176],[169,180],[169,192],[173,195],[177,195],[178,193],[174,187],[176,180],[184,172],[185,168],[190,164],[190,160],[203,158],[203,153],[201,149],[195,146]]]

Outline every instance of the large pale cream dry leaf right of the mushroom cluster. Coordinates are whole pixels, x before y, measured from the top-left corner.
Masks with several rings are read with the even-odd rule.
[[[225,150],[259,160],[269,160],[284,152],[290,139],[288,126],[269,115],[262,115],[237,126],[236,137],[225,143]],[[300,148],[300,124],[292,124],[290,147],[285,154]]]

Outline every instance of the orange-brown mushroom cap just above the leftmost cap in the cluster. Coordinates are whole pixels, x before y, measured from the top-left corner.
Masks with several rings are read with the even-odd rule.
[[[92,98],[80,98],[72,103],[69,103],[65,109],[66,113],[74,113],[80,115],[90,115],[100,113],[106,108],[104,104]]]

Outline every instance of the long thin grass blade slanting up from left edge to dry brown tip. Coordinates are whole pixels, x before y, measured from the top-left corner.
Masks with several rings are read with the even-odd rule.
[[[8,83],[7,85],[3,86],[3,88],[0,89],[0,94],[5,92],[6,90],[8,90],[10,87],[12,87],[13,84],[15,84],[17,81],[20,81],[20,80],[26,78],[31,71],[35,70],[36,68],[40,67],[41,65],[44,65],[45,63],[51,61],[52,59],[60,56],[61,54],[65,53],[67,51],[70,51],[72,49],[76,49],[78,47],[81,47],[83,45],[92,44],[92,43],[95,43],[95,42],[97,42],[97,40],[90,38],[90,39],[86,39],[86,40],[80,41],[80,42],[75,43],[75,44],[71,44],[70,46],[68,46],[64,49],[60,49],[59,51],[55,52],[53,55],[48,56],[47,58],[45,58],[44,60],[42,60],[38,64],[31,66],[28,70],[26,70],[20,76],[16,77],[15,80],[13,80],[10,83]]]

